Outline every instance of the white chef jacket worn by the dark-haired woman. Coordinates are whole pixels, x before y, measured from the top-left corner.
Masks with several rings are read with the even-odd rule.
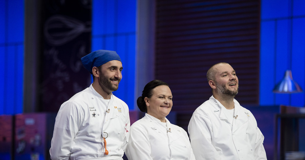
[[[128,160],[195,160],[186,131],[145,113],[130,127]]]

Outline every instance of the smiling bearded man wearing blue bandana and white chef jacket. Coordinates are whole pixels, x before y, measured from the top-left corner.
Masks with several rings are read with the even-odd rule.
[[[123,160],[129,138],[129,109],[112,94],[122,78],[122,62],[111,50],[81,58],[93,83],[64,102],[55,120],[53,160]]]

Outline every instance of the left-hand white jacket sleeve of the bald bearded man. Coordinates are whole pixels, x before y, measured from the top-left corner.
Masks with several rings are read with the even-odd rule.
[[[220,156],[213,146],[213,130],[210,118],[206,113],[194,113],[188,126],[191,146],[196,159],[220,160]]]

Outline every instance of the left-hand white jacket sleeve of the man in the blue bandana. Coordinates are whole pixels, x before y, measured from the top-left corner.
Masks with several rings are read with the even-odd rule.
[[[65,102],[61,105],[54,125],[50,156],[53,160],[68,160],[71,146],[83,119],[83,110],[75,102]]]

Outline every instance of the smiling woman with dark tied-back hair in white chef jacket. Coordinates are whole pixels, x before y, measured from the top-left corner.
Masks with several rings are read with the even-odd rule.
[[[173,106],[168,84],[153,80],[145,85],[137,100],[145,116],[130,127],[125,150],[128,160],[194,160],[186,131],[167,120]]]

